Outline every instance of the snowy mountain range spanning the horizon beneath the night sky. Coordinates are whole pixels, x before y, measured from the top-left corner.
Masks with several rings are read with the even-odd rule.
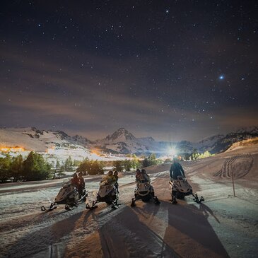
[[[177,153],[192,153],[210,151],[220,153],[227,150],[233,143],[258,136],[258,127],[242,128],[235,132],[217,134],[206,137],[199,142],[155,141],[151,136],[136,138],[127,129],[119,128],[104,139],[90,141],[84,136],[69,136],[64,131],[38,130],[29,128],[0,129],[0,146],[23,146],[28,150],[45,151],[46,148],[86,148],[98,149],[107,153],[156,153],[163,156],[175,149]]]

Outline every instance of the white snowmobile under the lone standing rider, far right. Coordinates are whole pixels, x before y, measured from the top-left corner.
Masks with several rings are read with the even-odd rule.
[[[187,195],[192,195],[197,203],[204,201],[204,197],[199,199],[197,194],[193,194],[192,187],[185,177],[177,176],[177,180],[170,178],[169,184],[172,204],[177,204],[177,199],[184,199]]]

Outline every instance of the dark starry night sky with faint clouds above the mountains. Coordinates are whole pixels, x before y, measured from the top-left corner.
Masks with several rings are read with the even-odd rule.
[[[0,127],[198,141],[258,125],[257,1],[0,5]]]

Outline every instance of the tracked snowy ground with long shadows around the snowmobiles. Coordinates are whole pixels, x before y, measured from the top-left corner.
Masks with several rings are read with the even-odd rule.
[[[42,212],[63,180],[0,185],[0,257],[257,257],[258,148],[182,163],[203,204],[170,203],[169,164],[148,168],[161,201],[136,202],[134,173],[119,178],[119,209],[60,205]],[[235,175],[235,194],[231,175]],[[86,177],[89,201],[100,176]]]

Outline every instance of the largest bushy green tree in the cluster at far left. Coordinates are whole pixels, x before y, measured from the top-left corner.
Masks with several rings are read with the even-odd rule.
[[[23,162],[23,176],[28,181],[47,179],[50,169],[51,165],[45,162],[43,156],[33,151]]]

